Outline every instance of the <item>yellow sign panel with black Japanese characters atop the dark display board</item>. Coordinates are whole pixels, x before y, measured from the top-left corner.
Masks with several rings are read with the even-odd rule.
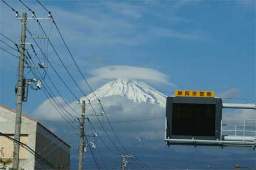
[[[213,91],[192,91],[192,90],[175,90],[175,96],[186,97],[214,97]]]

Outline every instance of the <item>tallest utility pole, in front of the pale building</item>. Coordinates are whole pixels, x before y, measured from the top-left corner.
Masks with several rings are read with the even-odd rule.
[[[19,75],[18,75],[18,88],[17,88],[17,103],[16,103],[16,120],[15,120],[15,140],[20,141],[20,125],[21,125],[21,110],[22,110],[22,95],[23,95],[23,73],[24,73],[24,53],[26,43],[26,25],[27,13],[22,15],[21,25],[21,43],[20,43],[20,60],[19,60]],[[19,169],[19,143],[14,143],[13,149],[13,169]]]

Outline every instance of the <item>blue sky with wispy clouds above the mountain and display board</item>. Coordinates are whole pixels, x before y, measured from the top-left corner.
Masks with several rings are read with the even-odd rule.
[[[19,1],[7,2],[20,14],[28,12]],[[35,10],[37,16],[47,16],[45,10],[35,1],[24,2]],[[226,100],[228,102],[254,102],[251,98],[255,98],[256,93],[255,1],[42,1],[42,3],[51,10],[82,72],[113,79],[117,72],[104,73],[103,68],[109,70],[114,66],[120,68],[117,71],[121,72],[122,76],[127,76],[129,73],[129,77],[136,79],[140,72],[152,75],[145,81],[157,90],[164,91],[166,95],[172,95],[175,89],[210,90],[221,97],[246,98]],[[20,21],[15,20],[15,14],[5,4],[2,2],[0,4],[1,33],[18,42],[21,31]],[[56,28],[53,27],[50,31],[52,22],[41,21],[41,23],[46,32],[51,32],[49,37],[65,64],[69,68],[75,68]],[[28,25],[34,34],[41,35],[35,22],[28,21]],[[8,42],[2,36],[1,40]],[[27,41],[32,42],[31,39]],[[43,40],[41,43],[44,47]],[[1,47],[8,49],[3,43]],[[51,47],[48,49],[49,59],[59,62]],[[8,50],[12,51],[12,49]],[[36,50],[40,54],[39,50]],[[15,51],[12,53],[18,55]],[[12,67],[17,66],[18,61],[2,50],[0,54],[0,103],[15,109],[14,88],[17,82],[17,69]],[[125,66],[134,66],[135,73],[124,71],[122,68]],[[78,88],[66,76],[64,69],[57,65],[55,68],[74,93],[82,97]],[[56,78],[51,68],[48,69],[48,74],[55,80],[64,98],[68,102],[73,102],[75,99]],[[83,86],[85,94],[88,94],[89,89],[82,83],[82,77],[75,71],[72,71],[72,74]],[[33,78],[32,76],[27,75],[29,78]],[[85,76],[93,88],[107,83],[106,80]],[[35,112],[45,100],[42,91],[30,90],[28,102],[23,104],[24,113],[30,115]],[[253,156],[253,152],[246,151],[249,153],[249,158]],[[198,153],[190,153],[201,157]],[[214,154],[210,156],[213,157]],[[188,158],[188,161],[191,160]],[[245,162],[253,165],[253,161]]]

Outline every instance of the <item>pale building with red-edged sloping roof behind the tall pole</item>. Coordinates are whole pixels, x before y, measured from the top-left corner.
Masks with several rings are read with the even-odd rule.
[[[14,113],[13,110],[0,105],[0,132],[8,134],[9,136],[14,136],[15,116],[16,113]],[[22,116],[21,135],[21,142],[26,143],[31,149],[44,157],[45,160],[48,160],[56,167],[69,169],[70,146],[46,129],[46,127],[37,123],[35,120]],[[9,154],[10,156],[10,153],[13,153],[13,142],[8,140],[6,141],[6,138],[0,136],[0,149],[2,147],[5,148],[4,151],[6,152],[6,155]],[[10,164],[9,167],[12,167],[12,164]],[[23,147],[20,147],[19,168],[24,168],[26,170],[52,169],[45,166],[44,162],[35,159],[35,156]]]

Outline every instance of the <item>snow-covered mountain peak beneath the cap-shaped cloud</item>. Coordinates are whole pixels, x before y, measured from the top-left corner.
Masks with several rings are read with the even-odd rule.
[[[116,79],[109,83],[104,84],[102,87],[94,91],[98,98],[110,96],[124,96],[134,102],[149,102],[157,104],[165,108],[167,96],[154,90],[153,87],[134,79]],[[87,95],[91,101],[95,100],[94,94]],[[83,100],[85,97],[80,99]]]

